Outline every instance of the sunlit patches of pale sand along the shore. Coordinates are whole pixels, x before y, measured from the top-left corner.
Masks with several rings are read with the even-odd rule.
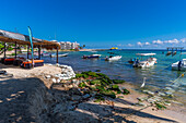
[[[53,81],[51,79],[48,79],[48,78],[46,78],[45,77],[45,74],[48,74],[48,75],[55,75],[55,74],[59,74],[59,73],[61,73],[61,69],[60,67],[58,67],[58,66],[55,66],[55,65],[47,65],[47,64],[45,64],[45,66],[42,66],[42,67],[35,67],[35,69],[33,69],[33,70],[23,70],[23,69],[19,69],[19,67],[16,67],[16,66],[7,66],[7,65],[2,65],[2,64],[0,64],[0,66],[3,69],[3,70],[5,70],[5,71],[8,71],[9,73],[12,73],[13,75],[14,75],[14,78],[30,78],[30,77],[37,77],[37,78],[39,78],[43,83],[44,83],[44,85],[48,88],[48,89],[50,89],[50,91],[54,91],[54,94],[55,95],[57,95],[58,93],[57,93],[57,90],[61,90],[61,89],[63,89],[63,87],[60,87],[60,86],[57,86],[56,84],[53,84]],[[50,67],[50,69],[48,69],[48,67]],[[55,71],[54,71],[55,70]],[[21,73],[21,74],[20,74]],[[2,78],[1,78],[2,79]],[[9,78],[8,78],[9,79]],[[51,87],[51,85],[54,85],[53,87]],[[147,96],[146,94],[140,94],[140,93],[138,93],[138,91],[136,91],[136,86],[135,85],[132,85],[132,84],[128,84],[128,83],[125,83],[124,85],[121,85],[121,86],[124,86],[124,87],[126,87],[127,89],[129,89],[130,91],[131,91],[131,94],[130,95],[127,95],[127,96],[125,96],[125,98],[124,99],[118,99],[119,101],[116,101],[116,100],[113,100],[114,102],[115,102],[115,110],[118,110],[118,109],[125,109],[125,110],[127,110],[127,109],[141,109],[141,107],[136,107],[136,106],[133,106],[132,103],[136,103],[138,100],[137,100],[137,98],[138,97],[140,97],[140,96]],[[70,93],[70,91],[69,91]],[[63,95],[63,94],[58,94],[58,95]],[[123,101],[121,101],[123,100]],[[82,102],[82,103],[80,103],[80,107],[81,108],[88,108],[88,103],[92,103],[92,106],[91,107],[95,107],[94,104],[98,104],[98,103],[95,103],[95,102],[93,102],[93,101],[88,101],[88,102]],[[94,103],[94,104],[93,104]],[[111,106],[108,104],[108,103],[105,103],[105,102],[103,102],[103,103],[101,103],[100,104],[101,107],[105,107],[106,109],[109,109],[109,110],[113,110],[113,109],[111,109]],[[106,106],[109,106],[109,107],[106,107]],[[90,107],[90,106],[89,106]],[[90,108],[91,108],[90,107]],[[152,115],[156,115],[156,118],[163,118],[162,120],[163,121],[161,121],[160,119],[156,119],[156,120],[153,120],[153,122],[167,122],[167,121],[164,121],[165,119],[174,119],[174,120],[178,120],[178,122],[184,122],[184,118],[181,118],[181,115],[183,115],[183,114],[186,114],[186,112],[185,112],[185,107],[178,107],[181,110],[178,110],[178,108],[177,108],[178,106],[176,106],[176,104],[173,104],[173,106],[170,106],[166,110],[163,110],[163,111],[152,111],[152,109],[151,108],[148,108],[148,109],[146,109],[146,110],[143,110],[142,112],[140,111],[136,111],[137,113],[140,113],[140,114],[143,114],[143,115],[149,115],[149,118],[143,118],[143,116],[140,116],[140,115],[136,115],[136,114],[132,114],[132,115],[130,115],[129,118],[126,118],[125,120],[127,120],[127,121],[136,121],[136,122],[147,122],[148,120],[152,120],[151,119],[151,116]],[[90,110],[92,110],[92,109],[90,109]],[[177,110],[177,111],[176,111]],[[74,110],[75,111],[75,110]],[[77,111],[79,111],[79,112],[82,112],[83,110],[81,109],[77,109]],[[101,111],[102,113],[103,113],[103,111]],[[101,113],[100,112],[100,113]],[[130,111],[128,111],[127,110],[127,112],[130,112]],[[67,113],[72,113],[71,111],[69,112],[69,111],[67,111]],[[85,113],[84,111],[83,111],[83,113]],[[102,114],[101,113],[101,114]],[[111,113],[111,112],[109,112]],[[178,116],[178,114],[181,113],[181,115]],[[73,112],[72,114],[77,114],[75,112]],[[79,114],[79,113],[78,113]],[[112,113],[113,114],[113,113]],[[166,115],[166,114],[168,114],[168,115]],[[66,114],[67,115],[67,114]],[[91,115],[94,115],[93,113],[91,113]],[[113,114],[113,118],[115,118],[114,116],[115,115],[115,113]],[[118,112],[117,112],[117,115],[118,115]],[[121,118],[124,119],[125,116],[126,116],[126,114],[123,114],[123,113],[119,113],[119,115],[123,115]],[[68,115],[67,115],[68,116]],[[103,116],[103,115],[102,115]],[[173,116],[173,118],[172,118]],[[80,118],[81,118],[81,115],[80,115]],[[88,116],[89,118],[89,116]],[[103,116],[104,119],[107,119],[107,118],[105,118],[105,116]],[[81,119],[83,119],[83,118],[81,118]],[[90,118],[91,119],[91,118]],[[92,120],[94,120],[94,119],[92,119]],[[108,120],[108,119],[107,119]],[[173,120],[173,121],[174,121]],[[176,120],[176,121],[177,121]],[[179,121],[181,120],[181,121]]]

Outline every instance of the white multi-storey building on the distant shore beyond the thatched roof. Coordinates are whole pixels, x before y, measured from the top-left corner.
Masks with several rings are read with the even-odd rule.
[[[60,44],[62,50],[75,49],[75,48],[79,48],[79,46],[80,46],[80,44],[77,44],[77,41],[75,42],[60,41],[59,44]]]

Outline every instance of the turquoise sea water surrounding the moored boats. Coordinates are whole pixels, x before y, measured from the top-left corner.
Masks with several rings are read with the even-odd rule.
[[[68,57],[59,58],[59,63],[71,65],[73,70],[78,72],[95,72],[96,70],[101,70],[102,73],[108,75],[112,78],[125,79],[128,83],[132,83],[138,86],[142,84],[143,77],[147,77],[146,86],[150,86],[155,89],[168,89],[173,94],[185,98],[186,74],[182,76],[183,72],[172,71],[171,64],[181,59],[186,59],[186,54],[181,56],[181,52],[177,51],[176,56],[166,57],[166,50],[117,50],[115,53],[123,56],[123,58],[118,61],[108,62],[104,60],[106,56],[109,56],[107,52],[109,52],[109,50],[97,52],[68,52]],[[156,53],[155,58],[158,59],[158,63],[150,69],[137,69],[132,67],[132,65],[128,63],[131,58],[137,58],[136,53],[151,52]],[[100,59],[82,59],[83,54],[89,56],[93,53],[102,54],[102,57]],[[56,58],[43,59],[45,62],[56,63]],[[146,58],[143,57],[143,59]]]

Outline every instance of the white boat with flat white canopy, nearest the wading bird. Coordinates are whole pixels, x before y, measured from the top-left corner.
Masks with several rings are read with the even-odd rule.
[[[140,57],[153,57],[155,53],[137,53]],[[133,62],[133,67],[150,67],[156,63],[156,58],[149,58],[144,61],[139,61],[138,59]]]

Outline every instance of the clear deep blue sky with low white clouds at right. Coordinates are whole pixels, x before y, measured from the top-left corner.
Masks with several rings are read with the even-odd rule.
[[[0,0],[0,29],[88,48],[186,46],[186,0]],[[16,29],[15,29],[16,28]]]

